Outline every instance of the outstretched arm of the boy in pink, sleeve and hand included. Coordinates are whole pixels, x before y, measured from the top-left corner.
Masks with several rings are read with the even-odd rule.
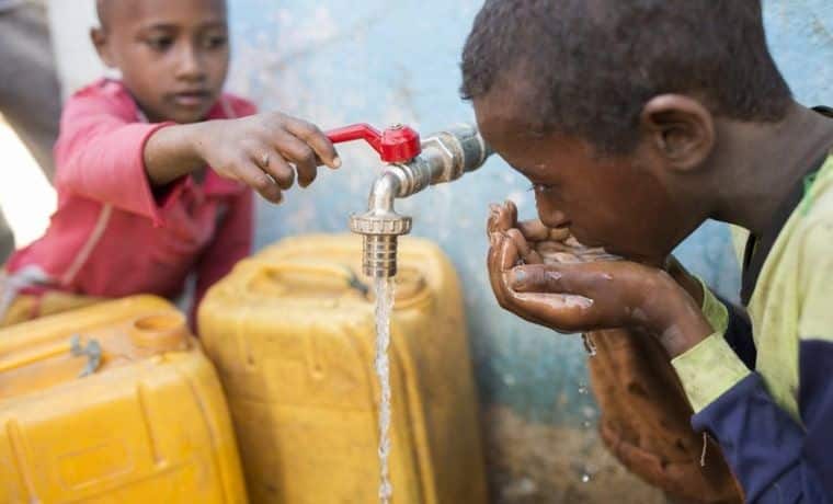
[[[224,176],[246,176],[273,201],[279,197],[279,188],[263,171],[254,172],[254,162],[262,162],[265,154],[266,169],[281,184],[292,184],[286,158],[297,162],[301,184],[311,182],[317,160],[309,161],[311,148],[289,129],[309,134],[305,138],[317,146],[311,150],[329,165],[340,163],[329,140],[323,145],[306,123],[279,114],[196,125],[147,124],[136,122],[135,108],[126,103],[107,96],[100,87],[82,91],[67,103],[55,148],[59,192],[110,204],[162,226],[161,209],[175,195],[175,186],[170,191],[161,186],[208,163],[216,163],[213,168]],[[274,142],[261,146],[264,137]]]

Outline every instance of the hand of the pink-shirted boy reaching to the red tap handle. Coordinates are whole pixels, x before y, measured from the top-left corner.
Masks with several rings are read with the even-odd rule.
[[[273,203],[283,191],[310,185],[318,167],[341,165],[335,148],[315,125],[278,112],[199,123],[194,146],[215,172],[254,188]]]

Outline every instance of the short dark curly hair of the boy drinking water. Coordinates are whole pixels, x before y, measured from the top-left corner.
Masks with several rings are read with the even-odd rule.
[[[761,0],[487,0],[463,53],[463,96],[525,80],[543,133],[621,154],[644,103],[662,93],[717,116],[784,117],[791,92],[766,45]]]

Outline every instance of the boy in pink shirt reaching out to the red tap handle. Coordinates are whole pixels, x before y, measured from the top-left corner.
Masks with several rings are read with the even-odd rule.
[[[92,41],[123,78],[91,84],[65,107],[58,209],[46,234],[0,273],[0,325],[58,311],[38,302],[53,293],[173,298],[191,274],[196,307],[250,252],[251,188],[279,203],[296,171],[307,186],[321,162],[340,165],[316,126],[253,115],[253,104],[222,93],[225,0],[99,0],[98,8]]]

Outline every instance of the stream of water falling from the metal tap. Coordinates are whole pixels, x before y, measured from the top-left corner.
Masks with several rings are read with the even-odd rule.
[[[376,376],[379,379],[379,502],[389,504],[390,484],[390,312],[393,309],[392,278],[376,278]]]

